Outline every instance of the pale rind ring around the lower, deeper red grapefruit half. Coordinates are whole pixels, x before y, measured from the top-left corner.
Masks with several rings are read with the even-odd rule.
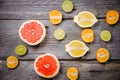
[[[52,57],[55,59],[56,63],[57,63],[57,64],[56,64],[56,65],[57,65],[57,70],[54,72],[53,75],[45,76],[44,74],[38,72],[38,70],[37,70],[38,68],[36,67],[36,62],[38,61],[39,58],[44,58],[45,56],[52,56]],[[51,63],[52,63],[52,62],[51,62]],[[60,70],[60,63],[59,63],[59,61],[58,61],[58,59],[57,59],[56,56],[54,56],[54,55],[51,54],[51,53],[45,53],[45,54],[42,54],[42,55],[40,55],[40,56],[38,56],[38,57],[36,58],[36,60],[34,61],[34,69],[35,69],[35,72],[36,72],[38,75],[40,75],[41,77],[44,77],[44,78],[52,78],[52,77],[54,77],[54,76],[56,76],[56,75],[58,74],[58,72],[59,72],[59,70]]]

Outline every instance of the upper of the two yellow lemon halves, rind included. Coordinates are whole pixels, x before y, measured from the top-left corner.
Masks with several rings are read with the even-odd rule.
[[[82,11],[77,16],[74,16],[73,21],[82,28],[92,27],[96,22],[97,18],[89,11]]]

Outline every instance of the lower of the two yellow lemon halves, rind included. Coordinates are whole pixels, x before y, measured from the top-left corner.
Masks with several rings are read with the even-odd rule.
[[[65,45],[65,51],[68,52],[72,57],[77,58],[84,56],[89,51],[89,48],[84,42],[73,40],[69,42],[69,44]]]

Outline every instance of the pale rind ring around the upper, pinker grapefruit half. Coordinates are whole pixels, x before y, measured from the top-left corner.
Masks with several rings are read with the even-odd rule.
[[[41,25],[41,27],[42,27],[42,29],[43,29],[43,35],[41,35],[41,38],[40,38],[37,42],[35,42],[35,43],[30,43],[30,42],[28,42],[26,39],[23,38],[23,36],[22,36],[22,34],[21,34],[21,30],[22,30],[22,28],[24,27],[24,25],[27,24],[27,23],[31,23],[31,22],[37,22],[38,24]],[[19,28],[19,36],[20,36],[20,39],[21,39],[22,41],[24,41],[25,43],[27,43],[27,44],[29,44],[29,45],[31,45],[31,46],[35,46],[35,45],[38,45],[39,43],[41,43],[41,42],[44,40],[44,38],[45,38],[45,36],[46,36],[46,29],[45,29],[45,26],[44,26],[39,20],[28,20],[28,21],[25,21],[25,22],[21,25],[21,27]]]

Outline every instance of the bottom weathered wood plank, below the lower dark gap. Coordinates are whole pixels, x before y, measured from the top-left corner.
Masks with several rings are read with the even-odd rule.
[[[10,70],[6,62],[0,60],[0,80],[48,80],[38,76],[33,68],[33,61],[20,61],[20,65]],[[120,62],[99,64],[94,61],[60,61],[59,74],[50,80],[68,80],[66,71],[69,67],[77,67],[78,80],[120,80]]]

